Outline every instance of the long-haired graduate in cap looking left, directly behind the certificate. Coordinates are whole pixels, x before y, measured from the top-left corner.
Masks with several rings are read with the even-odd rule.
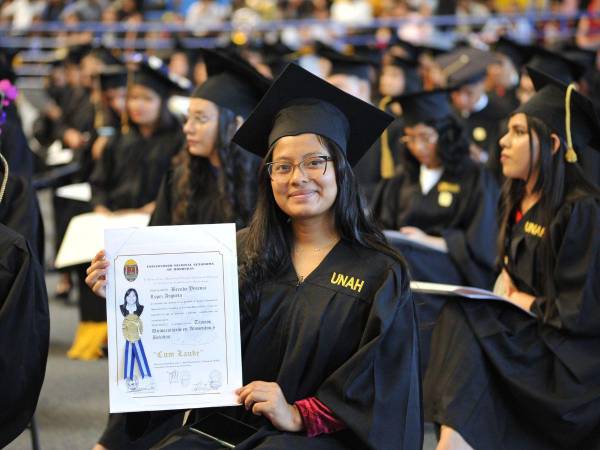
[[[231,142],[270,81],[243,59],[203,51],[208,80],[190,98],[185,147],[163,179],[150,225],[235,222],[256,203],[260,159]]]

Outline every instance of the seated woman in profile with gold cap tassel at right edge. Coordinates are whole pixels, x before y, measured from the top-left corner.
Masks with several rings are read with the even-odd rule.
[[[433,331],[440,449],[600,448],[600,191],[575,163],[600,124],[573,85],[530,75],[537,93],[500,141],[508,301],[448,302]]]

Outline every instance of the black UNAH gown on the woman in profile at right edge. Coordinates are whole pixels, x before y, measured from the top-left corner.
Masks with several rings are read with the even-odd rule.
[[[535,296],[537,317],[453,300],[433,332],[426,418],[474,448],[600,448],[600,201],[572,199],[555,215],[551,280],[541,272],[540,219],[534,206],[513,225],[506,265]]]

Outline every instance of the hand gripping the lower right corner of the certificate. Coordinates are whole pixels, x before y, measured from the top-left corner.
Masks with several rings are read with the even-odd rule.
[[[239,401],[257,416],[265,416],[280,431],[297,432],[304,429],[302,416],[290,405],[277,383],[253,381],[235,391]]]

